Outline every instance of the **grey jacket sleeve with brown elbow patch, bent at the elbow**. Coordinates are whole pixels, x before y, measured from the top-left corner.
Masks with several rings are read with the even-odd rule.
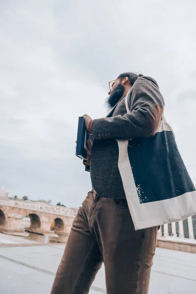
[[[141,77],[135,82],[128,98],[130,113],[94,120],[94,140],[126,140],[153,136],[164,109],[164,99],[157,83],[153,81]]]

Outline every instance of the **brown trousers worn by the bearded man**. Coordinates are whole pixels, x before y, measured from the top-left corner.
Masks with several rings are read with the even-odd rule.
[[[125,199],[95,191],[79,208],[51,294],[88,294],[105,266],[107,294],[147,294],[157,227],[135,231]]]

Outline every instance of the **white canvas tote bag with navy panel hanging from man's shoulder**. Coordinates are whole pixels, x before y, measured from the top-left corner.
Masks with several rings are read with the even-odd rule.
[[[129,113],[128,93],[125,105]],[[154,136],[117,142],[118,167],[136,230],[196,214],[196,189],[164,115]]]

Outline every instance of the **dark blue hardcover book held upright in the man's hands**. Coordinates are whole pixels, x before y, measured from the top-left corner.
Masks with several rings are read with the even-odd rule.
[[[87,157],[87,139],[89,137],[89,133],[85,126],[85,121],[83,117],[78,118],[78,127],[77,127],[77,143],[76,143],[76,152],[75,155],[81,159],[85,159]]]

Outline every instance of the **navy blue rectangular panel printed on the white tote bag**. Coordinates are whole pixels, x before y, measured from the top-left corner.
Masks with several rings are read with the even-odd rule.
[[[128,156],[140,203],[159,201],[196,191],[172,131],[129,140]]]

